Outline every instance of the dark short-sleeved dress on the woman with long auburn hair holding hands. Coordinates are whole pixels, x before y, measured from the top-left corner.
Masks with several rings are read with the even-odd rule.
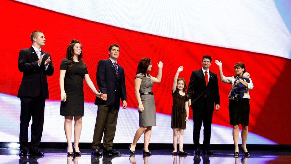
[[[63,59],[60,66],[60,70],[66,70],[64,88],[67,95],[66,101],[61,101],[60,115],[84,116],[83,79],[88,70],[81,62],[75,62],[72,67],[69,65],[70,61]]]

